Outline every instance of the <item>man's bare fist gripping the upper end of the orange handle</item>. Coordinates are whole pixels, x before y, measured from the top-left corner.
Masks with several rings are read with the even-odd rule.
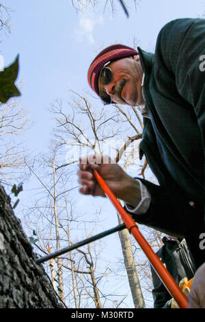
[[[104,162],[104,163],[103,163]],[[105,182],[114,195],[136,207],[141,200],[139,183],[122,170],[118,164],[111,163],[107,156],[88,156],[79,163],[79,184],[80,193],[83,195],[105,197],[105,193],[98,186],[93,171],[96,170],[105,179]]]

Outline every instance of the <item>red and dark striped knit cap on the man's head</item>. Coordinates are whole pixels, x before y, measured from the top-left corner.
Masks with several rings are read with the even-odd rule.
[[[126,58],[137,54],[138,52],[135,49],[120,44],[111,45],[100,51],[100,53],[98,53],[96,58],[90,64],[87,72],[87,81],[92,90],[94,90],[94,92],[96,92],[96,94],[99,96],[98,77],[102,67],[107,62],[112,62],[113,60],[118,60],[120,58]]]

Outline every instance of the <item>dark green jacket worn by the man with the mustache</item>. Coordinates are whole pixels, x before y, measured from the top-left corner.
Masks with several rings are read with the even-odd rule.
[[[159,186],[142,180],[152,202],[148,212],[135,219],[185,237],[199,266],[205,261],[205,251],[199,248],[204,232],[205,20],[167,23],[154,55],[138,50],[150,116],[144,118],[140,157],[146,156]]]

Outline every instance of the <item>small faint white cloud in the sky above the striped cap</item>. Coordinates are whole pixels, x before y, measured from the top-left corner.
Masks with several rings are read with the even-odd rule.
[[[75,34],[77,36],[77,40],[82,42],[85,38],[90,42],[90,44],[94,44],[94,29],[96,25],[102,25],[103,18],[102,16],[94,16],[94,14],[81,14],[79,18],[79,26],[75,29]]]

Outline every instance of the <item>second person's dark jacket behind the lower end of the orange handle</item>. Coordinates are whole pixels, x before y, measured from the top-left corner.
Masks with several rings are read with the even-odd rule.
[[[195,264],[186,240],[169,240],[167,237],[163,237],[163,243],[163,247],[156,252],[156,255],[165,264],[176,283],[179,284],[183,277],[191,280],[195,274]],[[152,267],[151,272],[154,286],[152,290],[154,308],[169,308],[172,296]]]

